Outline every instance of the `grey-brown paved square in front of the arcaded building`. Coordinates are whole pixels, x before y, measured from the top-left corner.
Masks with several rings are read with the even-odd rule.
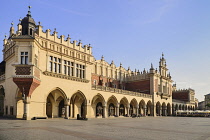
[[[210,140],[210,118],[0,119],[0,140]]]

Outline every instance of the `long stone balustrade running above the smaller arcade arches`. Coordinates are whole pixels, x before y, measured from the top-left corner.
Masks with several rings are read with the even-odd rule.
[[[145,98],[152,98],[152,95],[139,93],[139,92],[133,92],[128,90],[122,90],[122,89],[116,89],[111,87],[104,87],[99,85],[92,85],[93,90],[100,90],[105,92],[114,92],[118,94],[124,94],[124,95],[131,95],[131,96],[137,96],[137,97],[145,97]]]

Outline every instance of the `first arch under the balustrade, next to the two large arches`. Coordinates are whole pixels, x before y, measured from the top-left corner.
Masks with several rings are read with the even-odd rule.
[[[92,109],[94,112],[95,117],[105,117],[104,115],[104,103],[105,100],[101,94],[97,94],[92,99]]]

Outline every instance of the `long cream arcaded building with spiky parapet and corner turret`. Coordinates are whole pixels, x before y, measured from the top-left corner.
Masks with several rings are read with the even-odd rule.
[[[90,45],[43,31],[31,16],[12,26],[0,63],[0,115],[107,118],[194,110],[195,92],[176,90],[162,55],[159,68],[132,71],[95,60]]]

